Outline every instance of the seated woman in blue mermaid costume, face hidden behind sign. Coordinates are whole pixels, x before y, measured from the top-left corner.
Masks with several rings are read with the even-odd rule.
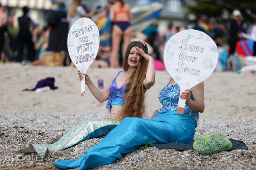
[[[180,94],[171,78],[160,91],[162,108],[154,120],[126,117],[102,141],[77,160],[53,162],[59,168],[90,169],[111,164],[146,143],[191,143],[197,127],[198,112],[204,111],[204,82]],[[186,99],[183,114],[177,113],[178,99]]]

